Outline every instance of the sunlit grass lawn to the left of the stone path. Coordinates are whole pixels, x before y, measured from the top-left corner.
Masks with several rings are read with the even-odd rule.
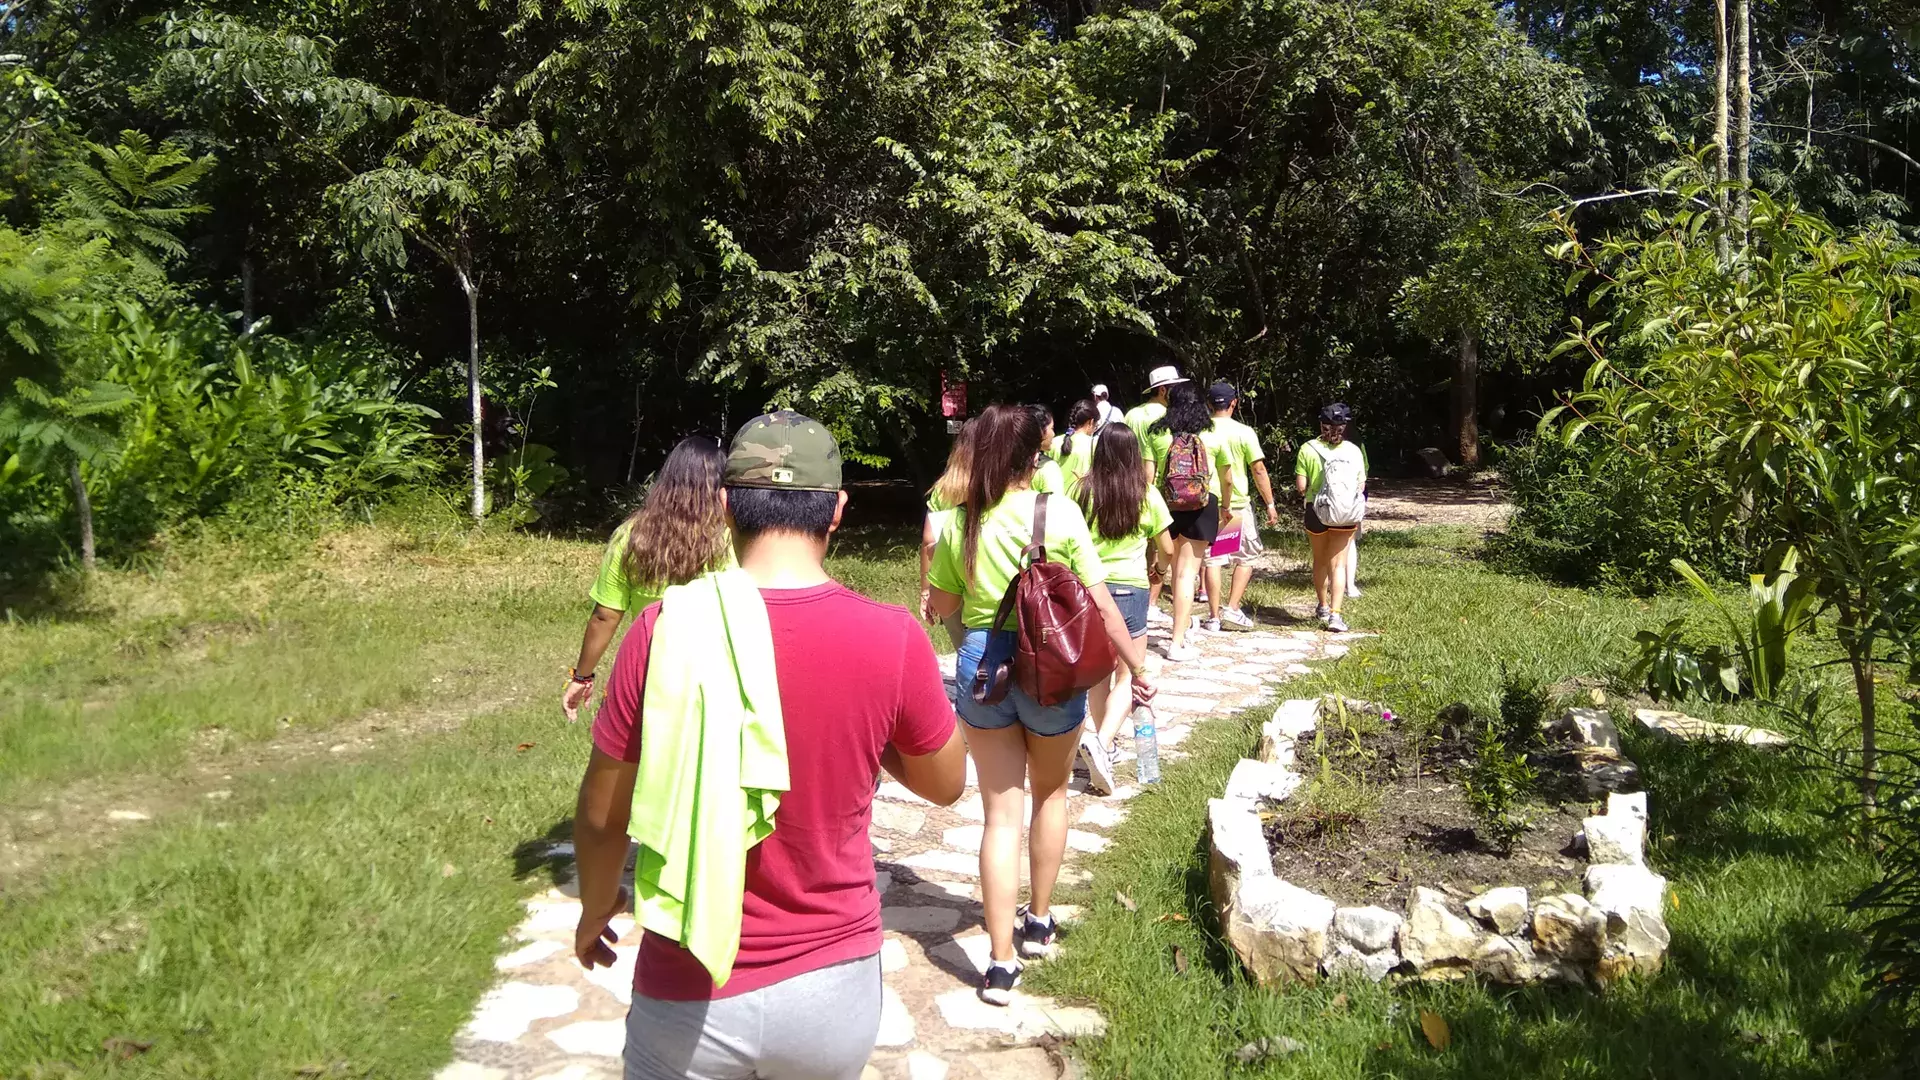
[[[912,552],[858,530],[833,571],[904,603]],[[588,732],[559,690],[597,559],[359,528],[202,546],[0,625],[0,838],[44,847],[0,876],[0,1078],[444,1065],[572,813]],[[369,713],[397,738],[324,751]],[[321,751],[261,755],[288,742]],[[230,798],[182,790],[202,774]],[[27,821],[69,801],[54,836]],[[108,828],[109,807],[154,821]]]

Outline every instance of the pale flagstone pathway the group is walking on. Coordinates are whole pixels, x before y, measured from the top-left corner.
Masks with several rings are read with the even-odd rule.
[[[1173,763],[1202,721],[1271,701],[1275,686],[1306,675],[1306,661],[1346,655],[1361,634],[1256,630],[1198,634],[1194,661],[1160,661],[1165,626],[1150,632],[1160,698],[1160,757]],[[948,682],[952,657],[941,659]],[[1131,734],[1119,744],[1119,790],[1100,798],[1075,776],[1068,799],[1068,865],[1062,890],[1087,884],[1075,863],[1098,853],[1127,817],[1133,786]],[[1066,1074],[1058,1038],[1098,1036],[1106,1020],[1092,1009],[1016,992],[998,1009],[975,997],[987,965],[987,930],[979,905],[979,834],[985,822],[973,763],[968,792],[952,807],[935,807],[887,780],[874,799],[874,876],[881,894],[885,1009],[870,1080],[1054,1080]],[[568,855],[570,846],[559,846]],[[1077,911],[1054,905],[1071,924]],[[536,896],[509,949],[495,959],[495,986],[455,1038],[457,1061],[436,1080],[618,1080],[632,999],[637,934],[618,919],[620,963],[593,972],[572,959],[580,905],[570,886]],[[1064,947],[1071,947],[1071,932]]]

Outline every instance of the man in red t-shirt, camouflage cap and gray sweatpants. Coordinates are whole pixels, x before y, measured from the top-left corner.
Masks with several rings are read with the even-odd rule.
[[[641,938],[626,1078],[851,1080],[879,1034],[876,780],[885,769],[948,805],[966,786],[966,744],[918,621],[826,573],[847,505],[826,427],[791,411],[749,421],[728,454],[726,505],[739,567],[766,600],[791,788],[774,832],[747,851],[726,986],[680,944]],[[580,782],[574,953],[586,967],[612,963],[607,922],[628,907],[620,872],[659,617],[647,607],[620,646]]]

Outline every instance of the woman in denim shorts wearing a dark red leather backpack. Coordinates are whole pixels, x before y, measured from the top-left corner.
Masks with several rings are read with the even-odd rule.
[[[1023,405],[993,405],[973,423],[966,502],[941,532],[927,580],[933,613],[945,617],[958,611],[966,623],[954,680],[987,811],[979,882],[993,942],[979,995],[1006,1005],[1020,982],[1020,957],[1048,955],[1054,945],[1052,894],[1068,844],[1068,776],[1079,748],[1075,732],[1087,719],[1085,692],[1058,705],[1041,705],[1020,686],[1008,688],[1006,698],[993,705],[968,694],[975,673],[991,673],[1014,655],[1014,623],[995,625],[995,617],[1023,565],[1041,498],[1046,498],[1041,540],[1048,561],[1071,567],[1089,586],[1106,636],[1114,651],[1127,659],[1142,700],[1152,696],[1152,684],[1146,680],[1146,650],[1127,632],[1127,621],[1106,588],[1106,567],[1087,532],[1087,519],[1071,500],[1033,490],[1033,471],[1046,450],[1039,419]],[[1029,786],[1033,817],[1023,822]],[[1027,836],[1031,896],[1016,911],[1021,832]]]

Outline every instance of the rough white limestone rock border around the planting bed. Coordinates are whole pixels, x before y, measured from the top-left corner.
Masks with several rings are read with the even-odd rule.
[[[1294,746],[1313,732],[1319,713],[1319,698],[1281,701],[1260,728],[1256,755],[1242,757],[1221,798],[1208,801],[1210,894],[1227,944],[1256,982],[1311,984],[1357,972],[1375,982],[1396,974],[1605,986],[1628,972],[1661,969],[1668,944],[1667,878],[1645,865],[1645,792],[1609,792],[1607,813],[1588,817],[1574,836],[1588,847],[1584,894],[1528,897],[1524,888],[1505,886],[1455,911],[1444,892],[1415,888],[1402,915],[1371,905],[1340,907],[1283,880],[1273,872],[1260,805],[1284,801],[1300,788]],[[1559,723],[1597,744],[1611,732],[1611,721],[1601,728],[1592,715]]]

